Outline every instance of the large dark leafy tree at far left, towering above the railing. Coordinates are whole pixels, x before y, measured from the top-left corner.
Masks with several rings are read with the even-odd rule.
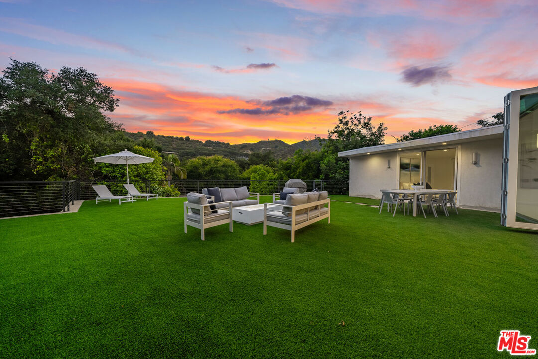
[[[103,113],[117,105],[114,91],[86,69],[54,74],[12,60],[0,78],[0,178],[87,176],[95,170],[91,157],[118,139],[121,125]]]

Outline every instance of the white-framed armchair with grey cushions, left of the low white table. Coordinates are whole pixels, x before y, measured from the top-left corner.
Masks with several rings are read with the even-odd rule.
[[[217,205],[221,209],[217,209]],[[225,209],[222,209],[225,208]],[[185,233],[187,226],[198,228],[201,231],[202,241],[205,240],[204,230],[221,224],[228,224],[232,231],[232,202],[210,204],[205,195],[200,193],[188,193],[187,202],[183,203],[183,221]]]

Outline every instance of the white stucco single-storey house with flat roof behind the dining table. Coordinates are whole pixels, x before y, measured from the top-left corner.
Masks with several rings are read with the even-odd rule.
[[[503,125],[339,152],[349,157],[349,195],[380,198],[381,189],[422,182],[454,189],[457,205],[499,212]]]

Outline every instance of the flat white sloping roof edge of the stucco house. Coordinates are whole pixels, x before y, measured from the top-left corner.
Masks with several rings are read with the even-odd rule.
[[[417,138],[404,142],[387,143],[384,145],[360,147],[359,149],[353,149],[348,151],[338,152],[339,157],[355,157],[363,156],[367,153],[381,153],[398,151],[398,149],[415,150],[417,148],[435,147],[443,143],[447,145],[458,144],[462,142],[480,141],[490,138],[502,138],[504,125],[495,125],[489,127],[482,127],[479,129],[447,133],[446,135],[437,135],[431,137]]]

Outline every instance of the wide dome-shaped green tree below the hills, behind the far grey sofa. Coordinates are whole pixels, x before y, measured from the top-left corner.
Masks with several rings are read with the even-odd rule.
[[[191,179],[231,180],[239,178],[239,165],[220,155],[189,159],[185,169]]]

